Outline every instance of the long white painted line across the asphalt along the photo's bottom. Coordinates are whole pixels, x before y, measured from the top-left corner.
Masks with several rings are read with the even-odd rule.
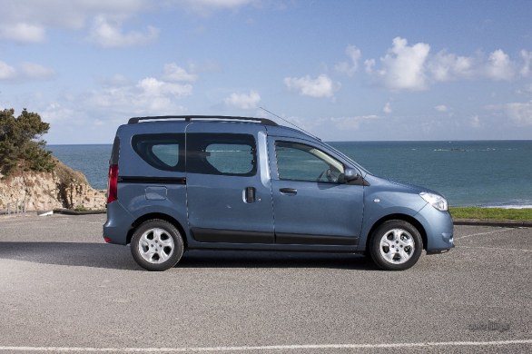
[[[192,348],[84,348],[84,347],[0,347],[0,351],[44,351],[44,352],[121,352],[121,353],[164,353],[164,352],[204,352],[204,351],[256,351],[256,350],[301,350],[301,349],[389,349],[389,348],[428,348],[428,347],[484,347],[532,344],[532,339],[494,341],[445,341],[420,343],[378,343],[378,344],[300,344],[278,346],[242,347],[192,347]]]

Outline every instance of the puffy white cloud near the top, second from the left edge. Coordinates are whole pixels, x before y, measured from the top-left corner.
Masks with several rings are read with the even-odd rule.
[[[127,47],[149,44],[159,37],[159,29],[148,26],[145,33],[132,31],[123,33],[120,21],[111,21],[103,15],[94,18],[88,39],[104,48]]]

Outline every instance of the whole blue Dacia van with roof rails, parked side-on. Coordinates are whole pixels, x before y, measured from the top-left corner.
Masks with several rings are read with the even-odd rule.
[[[405,270],[454,247],[437,192],[374,176],[308,133],[223,116],[118,128],[103,238],[131,243],[147,270],[186,250],[350,252]]]

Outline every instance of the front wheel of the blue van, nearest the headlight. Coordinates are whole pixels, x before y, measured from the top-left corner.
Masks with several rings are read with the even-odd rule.
[[[423,241],[407,221],[384,222],[371,235],[369,254],[383,270],[408,270],[419,260]]]

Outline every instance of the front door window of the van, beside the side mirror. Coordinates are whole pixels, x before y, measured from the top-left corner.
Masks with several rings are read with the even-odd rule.
[[[280,180],[338,183],[344,172],[343,163],[310,145],[277,142],[275,154]]]

